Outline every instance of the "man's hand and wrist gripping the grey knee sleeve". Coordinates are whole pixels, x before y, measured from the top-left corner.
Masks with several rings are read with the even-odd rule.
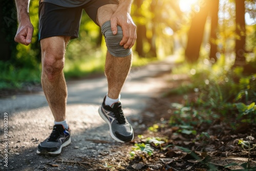
[[[137,38],[136,25],[130,15],[133,0],[120,0],[115,13],[111,17],[111,29],[113,34],[117,33],[117,25],[121,26],[123,38],[120,45],[125,49],[131,49]]]

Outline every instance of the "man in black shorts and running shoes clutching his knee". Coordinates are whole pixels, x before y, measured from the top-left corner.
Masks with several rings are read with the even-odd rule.
[[[41,84],[54,117],[54,126],[51,135],[38,145],[37,154],[60,154],[61,148],[71,143],[65,117],[67,87],[62,69],[68,41],[78,37],[83,9],[101,27],[108,48],[105,62],[108,93],[99,114],[109,124],[113,139],[119,142],[133,140],[132,126],[124,117],[120,102],[120,91],[131,68],[131,48],[136,40],[131,5],[132,0],[40,0]],[[31,43],[33,34],[28,7],[29,0],[16,0],[19,26],[15,41],[24,45]]]

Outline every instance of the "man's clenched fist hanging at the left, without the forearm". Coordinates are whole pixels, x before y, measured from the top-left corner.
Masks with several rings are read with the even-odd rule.
[[[28,46],[31,43],[34,27],[30,22],[19,23],[14,40]]]

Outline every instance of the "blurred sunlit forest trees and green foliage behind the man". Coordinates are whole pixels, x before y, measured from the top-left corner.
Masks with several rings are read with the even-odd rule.
[[[15,2],[1,1],[2,91],[40,85],[38,1],[30,2],[29,11],[34,34],[32,44],[24,46],[14,41]],[[101,30],[86,13],[82,15],[79,38],[71,40],[66,52],[67,80],[104,71]],[[255,0],[135,0],[131,15],[137,25],[134,67],[178,56],[176,63],[183,67],[174,68],[173,73],[187,74],[191,83],[170,92],[199,92],[200,97],[212,98],[216,103],[209,102],[212,106],[238,103],[241,115],[255,114]]]

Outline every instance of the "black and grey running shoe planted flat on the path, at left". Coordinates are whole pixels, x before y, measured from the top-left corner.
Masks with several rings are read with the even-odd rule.
[[[37,154],[57,155],[61,153],[61,148],[71,143],[70,130],[58,124],[50,127],[52,133],[45,141],[38,145]]]

